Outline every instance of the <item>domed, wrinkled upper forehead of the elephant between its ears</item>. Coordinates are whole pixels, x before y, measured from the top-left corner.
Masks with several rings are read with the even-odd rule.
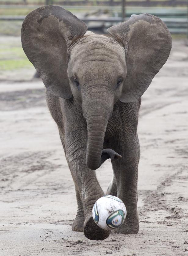
[[[80,64],[87,61],[125,62],[123,47],[111,37],[90,35],[81,38],[71,51],[71,58]],[[123,63],[122,63],[123,64]]]

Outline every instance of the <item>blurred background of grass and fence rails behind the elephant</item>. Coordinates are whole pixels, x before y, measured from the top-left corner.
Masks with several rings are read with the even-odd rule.
[[[21,81],[33,77],[34,68],[20,43],[21,25],[29,12],[48,4],[71,11],[96,33],[105,33],[107,28],[132,14],[147,12],[167,24],[174,40],[188,37],[187,0],[0,0],[0,80]]]

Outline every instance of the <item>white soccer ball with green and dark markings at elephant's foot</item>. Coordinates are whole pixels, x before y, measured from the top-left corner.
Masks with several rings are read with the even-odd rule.
[[[124,203],[115,196],[103,196],[93,205],[92,216],[95,223],[105,230],[119,228],[127,215]]]

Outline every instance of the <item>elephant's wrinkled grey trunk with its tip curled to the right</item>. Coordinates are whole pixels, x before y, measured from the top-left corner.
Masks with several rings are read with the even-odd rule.
[[[109,92],[88,93],[83,101],[83,113],[87,122],[88,142],[86,153],[86,165],[96,170],[100,165],[111,158],[113,161],[121,157],[112,149],[103,149],[104,136],[107,129],[110,114],[113,111],[113,96]]]

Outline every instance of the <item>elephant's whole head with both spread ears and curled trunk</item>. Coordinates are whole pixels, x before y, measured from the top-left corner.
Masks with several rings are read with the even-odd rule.
[[[43,6],[27,15],[22,46],[47,90],[82,106],[87,122],[86,164],[97,169],[107,158],[121,157],[103,149],[114,104],[135,102],[165,64],[171,50],[168,28],[150,14],[132,15],[95,35],[69,11]]]

